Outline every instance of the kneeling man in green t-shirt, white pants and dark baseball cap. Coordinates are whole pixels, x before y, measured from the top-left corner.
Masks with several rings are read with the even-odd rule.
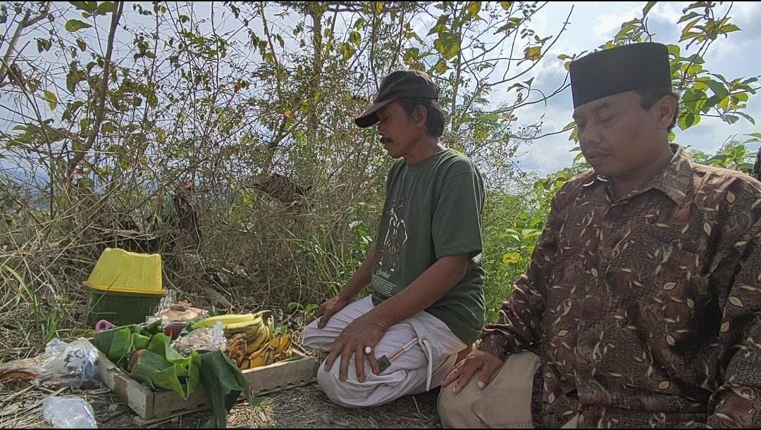
[[[484,322],[481,175],[439,143],[444,114],[427,74],[395,71],[355,119],[378,124],[399,159],[386,181],[376,245],[338,296],[304,329],[329,352],[317,374],[343,406],[374,406],[438,387]],[[365,287],[374,292],[355,299]]]

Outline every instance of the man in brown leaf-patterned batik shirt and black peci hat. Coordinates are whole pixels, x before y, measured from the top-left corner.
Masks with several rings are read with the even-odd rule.
[[[447,375],[442,424],[761,427],[761,183],[668,144],[666,46],[570,73],[594,170],[555,196],[498,323]]]

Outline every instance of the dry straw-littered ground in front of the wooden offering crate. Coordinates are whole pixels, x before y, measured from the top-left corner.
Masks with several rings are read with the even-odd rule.
[[[57,394],[56,394],[57,393]],[[27,383],[0,384],[0,428],[50,428],[43,400],[56,394],[77,395],[94,409],[99,428],[201,428],[209,411],[188,413],[159,422],[139,417],[107,388],[89,391],[40,390]],[[406,396],[368,409],[345,409],[331,403],[317,384],[266,396],[259,406],[240,402],[231,410],[228,428],[438,428],[438,390]]]

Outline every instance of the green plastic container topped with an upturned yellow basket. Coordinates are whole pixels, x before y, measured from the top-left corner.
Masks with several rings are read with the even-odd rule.
[[[161,255],[107,248],[83,284],[88,288],[89,326],[100,320],[117,326],[143,323],[164,296]]]

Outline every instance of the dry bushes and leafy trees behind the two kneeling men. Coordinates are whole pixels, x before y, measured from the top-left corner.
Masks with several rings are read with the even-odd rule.
[[[584,53],[547,55],[574,7],[549,17],[559,22],[556,33],[540,34],[534,22],[546,6],[6,2],[0,267],[19,276],[0,277],[29,286],[15,305],[83,321],[78,283],[100,250],[124,235],[148,241],[170,228],[162,223],[167,204],[190,181],[205,243],[200,254],[159,249],[174,253],[170,288],[198,300],[211,288],[240,308],[320,302],[373,245],[390,165],[373,131],[351,119],[385,74],[406,67],[434,77],[447,113],[444,144],[486,174],[484,261],[494,311],[530,258],[552,194],[585,167],[577,157],[540,179],[516,163],[547,134],[575,138],[573,123],[544,130],[541,118],[521,113],[568,88],[567,75],[557,87],[537,87],[540,68]],[[598,48],[657,40],[648,29],[653,8],[645,4],[642,17]],[[705,63],[716,40],[740,30],[731,8],[686,5],[673,23],[680,40],[662,40],[683,100],[680,130],[708,115],[753,122],[747,103],[756,77],[725,77]],[[728,145],[705,161],[743,169],[747,155]],[[301,193],[308,210],[262,192],[278,175],[309,190]]]

